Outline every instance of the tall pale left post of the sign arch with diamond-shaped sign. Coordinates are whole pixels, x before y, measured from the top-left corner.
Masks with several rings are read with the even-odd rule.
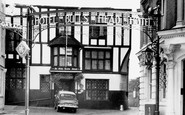
[[[9,5],[11,9],[15,9],[15,5]],[[31,38],[31,20],[32,16],[30,15],[31,11],[35,11],[33,7],[26,6],[27,14],[25,17],[27,18],[27,25],[26,25],[26,38],[23,39],[20,44],[16,47],[16,51],[20,55],[20,57],[26,59],[26,77],[25,77],[25,115],[29,115],[29,90],[30,90],[30,38]],[[11,10],[10,16],[13,16],[14,10]],[[21,35],[23,37],[23,35]],[[26,41],[26,42],[25,42]]]

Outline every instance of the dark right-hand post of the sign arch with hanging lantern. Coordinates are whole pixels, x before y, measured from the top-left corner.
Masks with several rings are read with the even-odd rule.
[[[157,14],[155,14],[155,10],[157,10]],[[160,30],[160,2],[157,2],[157,7],[148,9],[148,16],[152,18],[157,18],[157,31]],[[147,67],[151,67],[153,63],[153,58],[156,61],[156,105],[155,105],[155,115],[159,115],[159,78],[160,78],[160,37],[157,36],[157,39],[154,40],[154,36],[149,36],[146,34],[151,40],[151,47],[147,47],[145,51],[143,51],[145,65]],[[152,39],[151,39],[152,38]]]

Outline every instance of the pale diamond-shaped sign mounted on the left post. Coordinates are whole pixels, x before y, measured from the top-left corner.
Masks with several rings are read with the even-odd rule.
[[[24,58],[29,53],[30,48],[25,41],[21,41],[20,44],[16,47],[17,53]]]

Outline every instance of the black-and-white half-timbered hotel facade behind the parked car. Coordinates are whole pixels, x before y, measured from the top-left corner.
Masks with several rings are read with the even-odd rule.
[[[23,25],[19,32],[6,30],[6,104],[24,103],[25,59],[15,48],[29,33],[30,105],[52,106],[57,90],[69,90],[81,108],[127,108],[131,10],[35,7],[29,22],[23,5],[6,17]]]

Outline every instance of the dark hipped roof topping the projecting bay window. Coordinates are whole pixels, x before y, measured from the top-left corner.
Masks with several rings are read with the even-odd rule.
[[[67,46],[82,47],[82,44],[71,36],[57,36],[49,42],[49,46],[65,46],[67,38]]]

